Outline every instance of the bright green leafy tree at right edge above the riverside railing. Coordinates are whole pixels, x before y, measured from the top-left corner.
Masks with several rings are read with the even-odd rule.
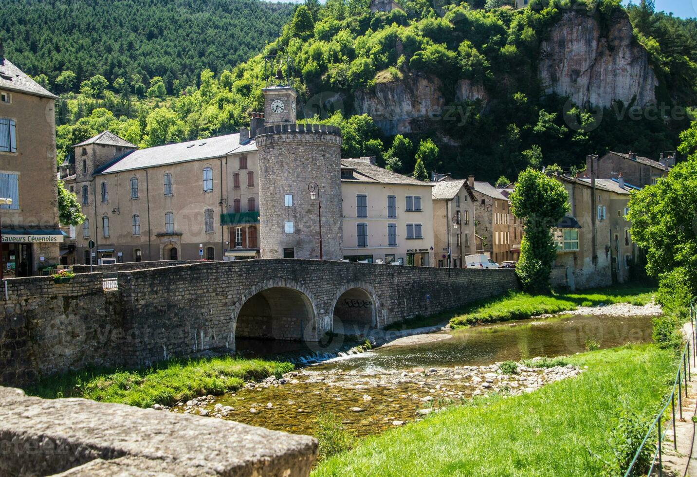
[[[627,215],[631,239],[646,250],[647,273],[659,278],[657,300],[666,310],[697,296],[697,121],[680,138],[687,160],[632,194]]]

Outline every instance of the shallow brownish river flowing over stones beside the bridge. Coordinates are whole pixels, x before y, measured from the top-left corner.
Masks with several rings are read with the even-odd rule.
[[[586,340],[602,348],[647,342],[651,318],[565,315],[438,334],[447,338],[332,359],[300,368],[282,386],[244,388],[206,400],[203,406],[184,405],[176,410],[199,413],[206,409],[220,415],[223,406],[227,407],[223,418],[302,434],[313,434],[316,416],[331,411],[355,434],[375,434],[393,427],[395,421],[414,421],[420,409],[491,391],[470,381],[470,366],[575,354],[585,351]],[[477,372],[483,377],[487,370]],[[542,370],[528,374],[521,386],[542,386],[553,380]],[[510,384],[516,379],[496,377],[492,390],[515,387],[513,391],[520,391],[517,381]]]

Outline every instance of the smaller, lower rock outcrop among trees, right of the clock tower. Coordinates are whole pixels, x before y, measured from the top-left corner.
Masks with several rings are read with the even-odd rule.
[[[356,91],[357,114],[368,114],[386,135],[422,130],[424,123],[443,114],[443,83],[424,73],[404,75],[401,81],[378,83]]]

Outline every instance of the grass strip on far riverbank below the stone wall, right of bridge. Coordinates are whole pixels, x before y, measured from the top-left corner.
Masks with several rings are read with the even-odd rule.
[[[645,305],[651,301],[654,289],[646,287],[612,287],[591,289],[585,293],[531,295],[509,292],[504,296],[472,303],[450,312],[450,326],[469,326],[526,319],[546,313],[574,310],[579,306],[596,306],[601,303],[631,303]]]

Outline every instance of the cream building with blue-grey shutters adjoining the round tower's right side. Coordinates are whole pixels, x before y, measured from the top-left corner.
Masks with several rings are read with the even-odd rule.
[[[342,159],[344,259],[431,266],[433,185],[375,165]]]

